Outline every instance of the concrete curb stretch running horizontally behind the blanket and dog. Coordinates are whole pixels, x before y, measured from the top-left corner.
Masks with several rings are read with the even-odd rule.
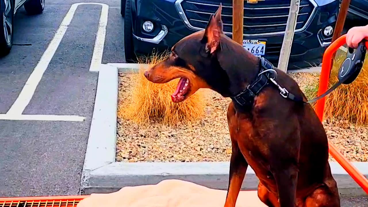
[[[368,176],[367,163],[354,166]],[[157,184],[165,179],[180,179],[214,189],[226,190],[229,180],[229,162],[114,162],[90,173],[90,183],[84,193],[109,193],[124,186]],[[366,196],[348,173],[337,163],[330,162],[331,170],[344,196]],[[256,190],[258,178],[248,167],[243,190]]]

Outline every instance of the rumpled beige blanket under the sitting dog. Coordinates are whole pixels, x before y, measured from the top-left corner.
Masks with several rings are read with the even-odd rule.
[[[95,193],[77,207],[223,207],[226,190],[210,189],[183,180],[123,187],[114,193]],[[241,191],[237,207],[266,207],[256,191]]]

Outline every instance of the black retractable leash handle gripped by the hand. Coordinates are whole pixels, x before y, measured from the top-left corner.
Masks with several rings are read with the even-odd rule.
[[[341,65],[338,74],[339,81],[342,84],[350,84],[358,77],[366,52],[365,41],[361,41],[355,51],[354,48],[348,48],[347,57]]]

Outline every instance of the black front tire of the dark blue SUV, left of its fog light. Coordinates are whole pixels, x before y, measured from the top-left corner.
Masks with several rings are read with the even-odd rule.
[[[125,52],[125,61],[127,63],[137,62],[137,56],[134,53],[134,46],[133,46],[132,14],[130,10],[130,0],[127,0],[125,3],[124,52]]]

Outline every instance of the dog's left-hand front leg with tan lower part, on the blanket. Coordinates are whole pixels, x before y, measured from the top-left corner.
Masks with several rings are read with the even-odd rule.
[[[225,207],[234,207],[241,184],[243,183],[248,163],[241,154],[238,144],[232,140],[232,153],[230,158],[229,187],[227,189]]]

